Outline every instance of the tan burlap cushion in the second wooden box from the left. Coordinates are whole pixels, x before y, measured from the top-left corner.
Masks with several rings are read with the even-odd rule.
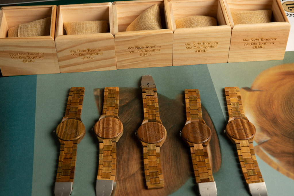
[[[93,34],[109,32],[109,21],[71,21],[63,23],[67,35]]]

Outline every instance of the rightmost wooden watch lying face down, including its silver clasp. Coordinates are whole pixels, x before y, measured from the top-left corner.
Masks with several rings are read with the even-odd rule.
[[[255,127],[245,117],[239,87],[225,87],[229,120],[226,135],[236,144],[242,173],[251,195],[266,196],[267,190],[253,148]]]

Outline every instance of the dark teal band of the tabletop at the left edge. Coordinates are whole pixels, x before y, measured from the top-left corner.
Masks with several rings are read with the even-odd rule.
[[[0,195],[31,195],[36,75],[0,78]]]

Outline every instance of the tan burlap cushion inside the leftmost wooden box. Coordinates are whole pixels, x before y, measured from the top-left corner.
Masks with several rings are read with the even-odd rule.
[[[8,29],[8,37],[31,37],[50,35],[51,17],[32,21]]]

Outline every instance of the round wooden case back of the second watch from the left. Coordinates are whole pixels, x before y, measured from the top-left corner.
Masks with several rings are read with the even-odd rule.
[[[95,134],[104,139],[113,139],[123,132],[123,124],[117,118],[105,117],[94,125]]]

